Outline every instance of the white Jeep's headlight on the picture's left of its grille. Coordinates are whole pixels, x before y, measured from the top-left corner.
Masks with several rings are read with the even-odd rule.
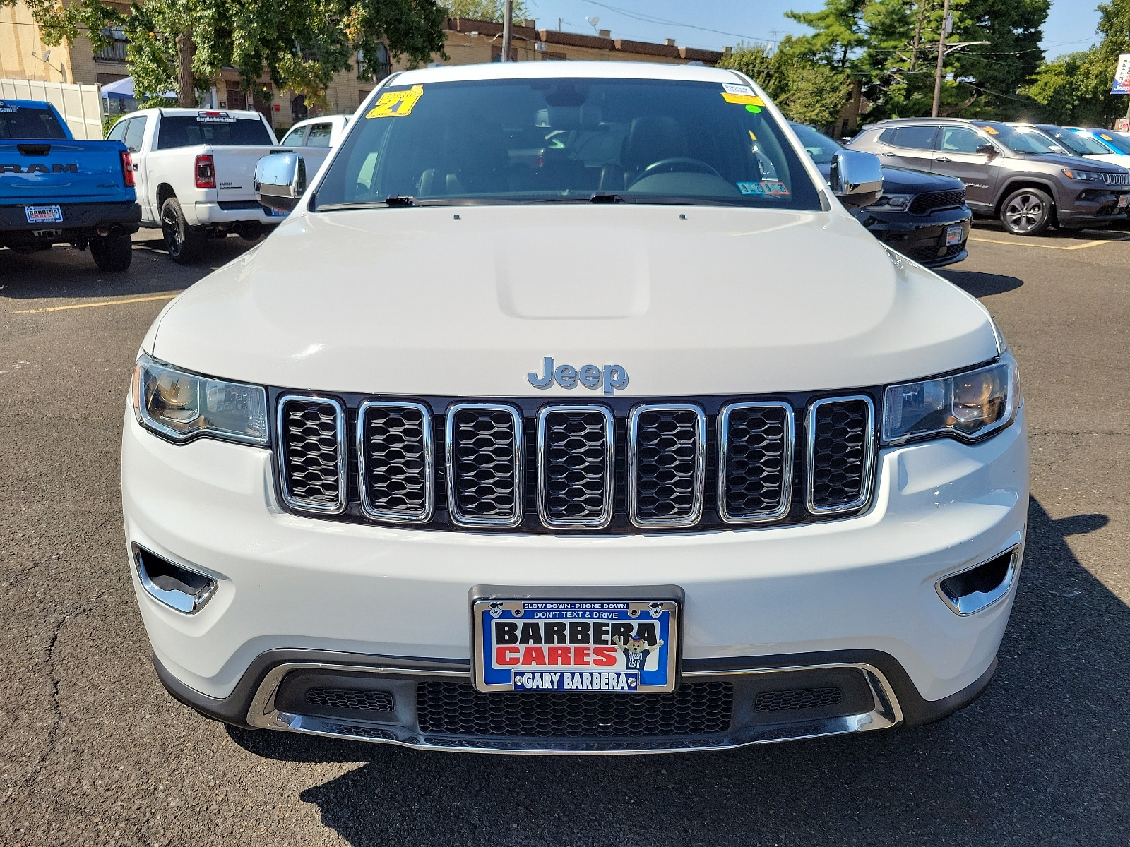
[[[176,442],[268,443],[262,387],[177,370],[144,353],[133,369],[133,409],[141,426]]]

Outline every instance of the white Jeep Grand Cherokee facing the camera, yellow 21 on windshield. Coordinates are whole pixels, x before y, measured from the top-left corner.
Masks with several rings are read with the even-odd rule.
[[[210,717],[653,752],[936,721],[989,683],[1016,364],[746,77],[407,71],[139,353],[122,490],[162,682]],[[837,195],[840,199],[837,199]]]

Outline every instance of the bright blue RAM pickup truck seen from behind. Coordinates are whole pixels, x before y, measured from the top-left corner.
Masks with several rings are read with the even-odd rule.
[[[125,145],[76,140],[50,103],[0,99],[0,247],[89,247],[101,270],[124,271],[140,219]]]

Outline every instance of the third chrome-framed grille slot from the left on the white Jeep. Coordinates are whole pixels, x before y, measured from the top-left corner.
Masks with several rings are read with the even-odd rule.
[[[464,420],[460,421],[463,416]],[[470,421],[466,418],[477,416],[476,421],[487,421],[495,431],[486,431],[487,426],[479,426],[477,435],[471,435],[475,428],[467,429]],[[489,416],[489,417],[485,417]],[[495,436],[498,434],[497,427],[502,424],[501,418],[508,416],[510,424],[506,428],[506,438],[499,440]],[[476,440],[478,444],[466,444],[468,440]],[[506,443],[508,442],[510,456],[507,457]],[[464,446],[466,444],[466,446]],[[444,421],[444,447],[446,455],[446,482],[447,482],[447,509],[451,514],[452,523],[459,526],[494,526],[511,527],[522,523],[522,505],[525,498],[525,442],[522,436],[522,413],[512,405],[504,403],[454,403],[447,409]],[[473,452],[469,452],[470,447]],[[487,452],[490,456],[490,464],[496,468],[487,469],[485,473],[479,473],[479,468],[486,462],[476,461],[476,456]],[[497,455],[501,454],[501,455]],[[508,468],[508,470],[507,470]],[[475,475],[479,479],[475,479]],[[506,477],[510,477],[510,494],[506,494]],[[498,483],[502,482],[502,492],[497,491]],[[473,484],[475,488],[488,487],[496,489],[492,497],[478,498],[480,501],[494,503],[499,500],[505,504],[510,499],[508,508],[494,508],[496,514],[467,514],[460,506],[460,496],[467,494],[464,484]],[[484,509],[483,512],[487,512]]]

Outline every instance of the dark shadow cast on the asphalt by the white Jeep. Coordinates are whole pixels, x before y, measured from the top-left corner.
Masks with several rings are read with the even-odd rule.
[[[295,762],[365,762],[302,792],[365,845],[1121,844],[1130,826],[1130,609],[1036,501],[984,696],[932,726],[651,757],[428,753],[229,730]]]

